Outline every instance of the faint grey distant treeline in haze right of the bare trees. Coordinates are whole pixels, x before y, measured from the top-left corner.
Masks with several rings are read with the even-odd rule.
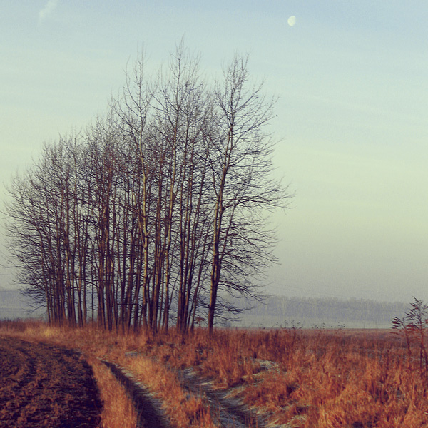
[[[394,317],[402,317],[407,303],[374,300],[340,300],[315,297],[268,297],[243,313],[241,323],[264,326],[305,327],[325,323],[361,327],[389,327]]]

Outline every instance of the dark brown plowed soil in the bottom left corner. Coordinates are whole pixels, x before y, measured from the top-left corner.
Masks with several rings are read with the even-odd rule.
[[[78,354],[0,337],[1,428],[95,428],[101,409],[91,367]]]

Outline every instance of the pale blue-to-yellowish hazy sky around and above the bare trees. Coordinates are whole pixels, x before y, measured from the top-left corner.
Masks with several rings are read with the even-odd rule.
[[[280,97],[295,198],[269,290],[428,301],[427,22],[426,1],[2,1],[0,202],[43,141],[103,113],[138,49],[158,66],[184,36],[208,74],[248,52]]]

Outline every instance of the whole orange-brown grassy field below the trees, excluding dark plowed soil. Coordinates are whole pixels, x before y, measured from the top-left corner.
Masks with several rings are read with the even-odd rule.
[[[427,367],[417,342],[409,348],[392,330],[216,330],[209,338],[196,329],[188,337],[174,330],[153,337],[27,321],[2,322],[0,337],[6,344],[14,337],[79,350],[81,357],[69,355],[73,364],[86,360],[93,368],[101,427],[135,427],[142,417],[141,409],[133,410],[136,391],[122,386],[101,360],[143,384],[141,394],[173,428],[428,427]],[[29,360],[23,353],[19,367]]]

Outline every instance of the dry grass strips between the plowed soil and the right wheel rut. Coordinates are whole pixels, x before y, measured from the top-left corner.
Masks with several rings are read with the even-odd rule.
[[[123,397],[123,388],[108,376],[108,370],[103,368],[99,360],[114,362],[133,372],[136,379],[146,384],[154,397],[161,400],[173,427],[215,427],[203,399],[185,392],[175,374],[162,362],[145,355],[126,356],[126,352],[141,349],[151,342],[144,335],[108,333],[96,327],[70,330],[49,327],[42,322],[17,322],[16,325],[13,322],[2,322],[0,332],[33,342],[49,342],[81,350],[92,365],[101,390],[105,407],[102,414],[104,427],[135,427],[136,424],[133,422],[135,414],[129,418],[131,403],[127,397]],[[118,397],[115,397],[116,388]]]

